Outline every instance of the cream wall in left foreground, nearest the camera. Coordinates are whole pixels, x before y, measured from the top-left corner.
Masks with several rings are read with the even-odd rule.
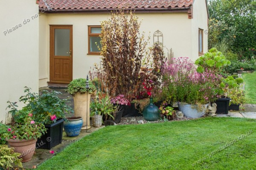
[[[39,20],[36,0],[0,0],[0,6],[0,122],[6,123],[8,100],[17,102],[24,86],[38,92]]]

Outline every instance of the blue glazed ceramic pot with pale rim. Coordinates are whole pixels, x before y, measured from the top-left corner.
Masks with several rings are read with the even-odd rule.
[[[83,119],[79,116],[67,117],[67,122],[64,122],[64,130],[69,137],[79,136]]]

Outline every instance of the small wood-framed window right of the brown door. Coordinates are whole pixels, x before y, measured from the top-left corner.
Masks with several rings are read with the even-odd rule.
[[[101,26],[88,26],[88,54],[89,55],[100,55],[100,51],[98,49],[101,47],[100,44],[100,32]]]

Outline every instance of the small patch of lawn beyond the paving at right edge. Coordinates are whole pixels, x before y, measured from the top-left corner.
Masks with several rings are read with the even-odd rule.
[[[256,71],[253,73],[244,73],[242,77],[245,82],[246,103],[256,104]]]

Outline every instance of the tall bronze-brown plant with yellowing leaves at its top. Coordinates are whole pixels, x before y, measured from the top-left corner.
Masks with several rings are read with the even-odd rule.
[[[101,22],[101,55],[110,96],[123,94],[131,101],[140,87],[140,69],[147,42],[140,36],[140,23],[134,12],[112,12]]]

